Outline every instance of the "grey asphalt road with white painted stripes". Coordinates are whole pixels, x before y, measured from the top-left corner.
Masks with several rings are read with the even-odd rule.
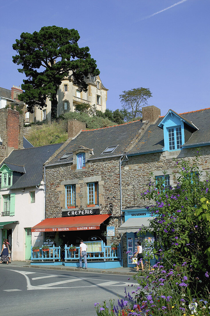
[[[12,316],[95,316],[95,302],[124,299],[124,288],[132,283],[132,277],[128,281],[123,275],[6,264],[0,265],[0,273],[0,313]]]

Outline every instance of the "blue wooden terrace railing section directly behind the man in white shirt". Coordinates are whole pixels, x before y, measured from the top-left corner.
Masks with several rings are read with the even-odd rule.
[[[72,247],[72,245],[71,245]],[[65,261],[78,261],[80,257],[80,247],[75,247],[76,251],[70,251],[70,247],[65,245]],[[117,246],[117,250],[111,249],[111,246],[106,246],[101,243],[101,251],[88,251],[87,260],[90,261],[120,261],[121,260],[121,245]]]

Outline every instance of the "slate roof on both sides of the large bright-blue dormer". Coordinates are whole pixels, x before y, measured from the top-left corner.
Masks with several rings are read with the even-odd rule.
[[[193,112],[181,113],[181,116],[192,122],[199,130],[195,131],[189,140],[183,144],[197,144],[210,142],[210,108]],[[163,130],[158,127],[163,117],[160,117],[155,124],[149,126],[134,148],[129,153],[140,151],[161,150],[164,148]]]

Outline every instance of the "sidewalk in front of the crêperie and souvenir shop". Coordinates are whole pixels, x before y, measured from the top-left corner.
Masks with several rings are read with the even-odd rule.
[[[107,274],[118,274],[118,275],[128,275],[133,276],[136,271],[133,268],[113,268],[113,269],[93,269],[87,268],[87,270],[79,270],[75,267],[64,267],[63,265],[30,265],[30,261],[12,261],[8,266],[10,267],[23,267],[23,268],[39,268],[39,269],[49,269],[49,270],[64,270],[64,271],[84,271],[91,273],[107,273]]]

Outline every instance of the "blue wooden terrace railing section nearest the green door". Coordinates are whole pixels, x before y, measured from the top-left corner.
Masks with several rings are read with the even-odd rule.
[[[33,251],[31,247],[31,260],[61,261],[61,247],[55,247],[53,245],[53,247],[49,247],[49,251],[43,251],[42,247],[39,248],[39,251]]]

